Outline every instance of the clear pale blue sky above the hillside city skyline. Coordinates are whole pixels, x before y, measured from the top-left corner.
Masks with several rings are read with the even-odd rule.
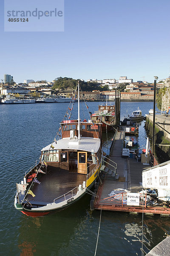
[[[0,3],[0,79],[169,76],[169,0],[65,0],[64,32],[4,32]]]

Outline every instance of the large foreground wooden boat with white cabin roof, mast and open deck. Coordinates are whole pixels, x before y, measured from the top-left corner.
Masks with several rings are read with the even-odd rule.
[[[72,107],[68,110],[71,113]],[[78,107],[78,120],[68,117],[59,131],[59,140],[42,148],[40,162],[17,183],[14,207],[26,215],[43,216],[69,207],[89,192],[99,175],[101,124],[80,122]]]

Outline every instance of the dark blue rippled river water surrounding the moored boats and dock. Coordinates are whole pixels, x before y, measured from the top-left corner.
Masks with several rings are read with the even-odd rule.
[[[89,111],[99,102],[88,102]],[[82,104],[83,106],[83,104]],[[142,113],[153,102],[121,102],[121,119],[137,107]],[[90,210],[90,195],[54,215],[31,218],[14,208],[16,182],[51,143],[67,103],[0,105],[0,254],[6,256],[93,256],[99,227],[99,211]],[[77,109],[77,103],[74,104]],[[82,119],[84,119],[80,106]],[[87,118],[87,111],[85,117]],[[73,113],[72,119],[77,119]],[[113,133],[104,137],[107,152]],[[139,126],[140,145],[146,143],[144,121]],[[107,140],[108,139],[108,140]],[[169,218],[144,216],[143,250],[149,252],[170,233]],[[142,215],[102,211],[98,256],[142,255]]]

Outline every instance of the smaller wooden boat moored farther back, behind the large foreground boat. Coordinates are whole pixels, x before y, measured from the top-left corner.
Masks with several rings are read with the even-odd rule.
[[[91,115],[91,120],[102,123],[102,131],[111,131],[115,125],[115,106],[99,105],[99,110]]]

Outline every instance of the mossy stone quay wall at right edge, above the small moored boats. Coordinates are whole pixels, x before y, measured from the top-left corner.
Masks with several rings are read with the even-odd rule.
[[[170,116],[156,115],[155,122],[164,123],[159,124],[166,131],[161,129],[158,125],[155,125],[155,144],[170,144]],[[153,115],[148,115],[145,122],[145,128],[149,133],[150,137],[153,137]],[[168,133],[169,132],[169,133]],[[157,156],[162,162],[170,160],[170,147],[169,146],[155,146]]]

